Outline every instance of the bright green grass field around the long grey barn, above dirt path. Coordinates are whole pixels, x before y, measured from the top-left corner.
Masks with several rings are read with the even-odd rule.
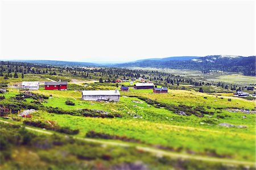
[[[18,94],[9,89],[6,99]],[[32,120],[55,121],[59,126],[78,128],[84,137],[88,131],[110,135],[127,136],[141,141],[139,144],[151,147],[168,147],[171,151],[193,152],[196,155],[222,156],[234,160],[255,160],[255,114],[229,113],[225,108],[236,106],[240,109],[254,109],[254,102],[230,96],[214,96],[186,90],[169,90],[168,94],[154,94],[152,89],[121,92],[119,102],[82,101],[81,92],[76,90],[56,91],[40,89],[35,93],[52,95],[42,103],[44,106],[60,107],[64,110],[95,109],[118,113],[122,118],[89,118],[67,114],[37,111]],[[133,97],[129,97],[133,96]],[[177,115],[170,110],[148,105],[137,97],[143,96],[173,105],[204,106],[213,111],[212,117],[188,117]],[[206,98],[205,98],[206,97]],[[228,98],[232,99],[228,101]],[[67,99],[75,106],[65,105]],[[29,99],[27,102],[31,102]],[[137,101],[137,102],[134,102]],[[209,106],[209,107],[207,107]],[[222,110],[216,110],[223,107]],[[224,118],[218,118],[224,115]],[[242,116],[246,115],[246,119]],[[22,118],[24,119],[24,118]],[[245,125],[247,128],[220,127],[218,123]]]

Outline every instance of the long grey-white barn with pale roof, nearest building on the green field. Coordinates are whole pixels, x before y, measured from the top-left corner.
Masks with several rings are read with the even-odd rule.
[[[88,101],[119,101],[120,93],[116,90],[83,90],[82,99]]]

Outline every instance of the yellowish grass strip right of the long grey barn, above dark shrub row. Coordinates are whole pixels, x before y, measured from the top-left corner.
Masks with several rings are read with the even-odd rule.
[[[155,94],[152,89],[135,90],[130,89],[129,93],[122,92],[127,96],[142,96],[150,99],[156,99],[159,102],[172,103],[175,105],[188,106],[212,106],[217,107],[239,107],[241,109],[254,109],[254,101],[248,101],[243,98],[232,96],[214,96],[206,93],[191,92],[187,90],[168,90],[167,94]],[[206,97],[206,98],[204,98]],[[232,101],[228,101],[228,99]]]

